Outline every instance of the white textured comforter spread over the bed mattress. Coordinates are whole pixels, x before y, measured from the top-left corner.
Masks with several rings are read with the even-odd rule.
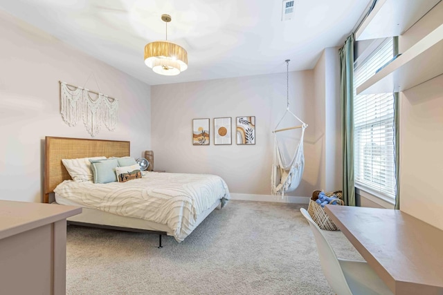
[[[181,242],[195,228],[199,213],[229,200],[226,182],[216,175],[144,173],[128,182],[94,184],[65,180],[54,189],[56,201],[168,225]],[[71,203],[69,203],[71,204]]]

